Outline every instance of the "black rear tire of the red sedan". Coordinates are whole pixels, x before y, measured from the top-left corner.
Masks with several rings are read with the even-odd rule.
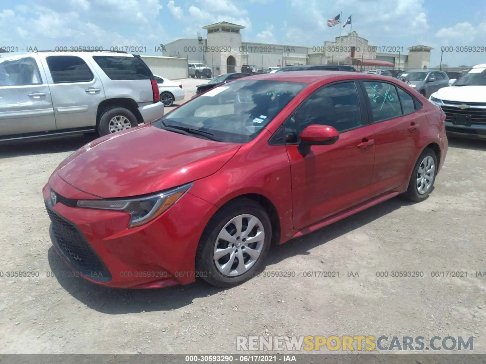
[[[427,162],[428,161],[428,162]],[[430,185],[428,184],[429,179],[421,179],[422,182],[419,184],[419,179],[421,176],[424,174],[419,171],[425,169],[426,171],[430,169],[430,166],[427,166],[427,163],[433,162],[433,175],[430,176],[430,172],[426,173],[425,175],[432,177],[432,182],[430,182]],[[409,199],[412,201],[423,201],[424,199],[427,199],[429,197],[429,194],[432,192],[434,189],[434,182],[435,182],[435,176],[437,175],[437,157],[435,156],[434,150],[430,148],[424,149],[422,154],[420,154],[420,157],[418,157],[418,160],[414,166],[414,170],[412,172],[412,176],[410,177],[410,182],[408,183],[408,189],[407,191],[402,195],[405,199]],[[420,192],[419,186],[427,187],[426,191]]]

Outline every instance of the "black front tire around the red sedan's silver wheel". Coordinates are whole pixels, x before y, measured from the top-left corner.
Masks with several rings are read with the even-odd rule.
[[[258,230],[259,234],[261,234],[263,231],[264,238],[259,242],[250,243],[249,246],[244,244],[244,238],[241,240],[235,239],[232,240],[233,245],[235,245],[235,247],[232,248],[230,240],[225,241],[223,239],[218,239],[218,236],[221,232],[223,232],[226,225],[226,236],[236,236],[238,234],[238,229],[236,228],[236,225],[232,223],[232,221],[235,218],[238,218],[240,215],[244,216],[242,218],[243,223],[241,228],[241,236],[246,235],[245,233],[247,232],[247,228],[244,231],[243,228],[245,226],[247,227],[250,219],[255,217],[258,221],[254,220],[257,221],[257,224],[252,231],[249,232],[249,235],[251,237],[256,237],[255,233]],[[258,238],[256,240],[258,240]],[[197,247],[196,272],[198,273],[199,277],[202,277],[209,284],[216,287],[231,287],[240,284],[250,279],[256,272],[259,271],[264,263],[271,241],[272,224],[270,223],[270,219],[263,207],[252,199],[234,199],[219,209],[209,220]],[[214,256],[216,248],[230,249],[231,253],[216,259]],[[247,253],[249,251],[252,251],[252,255],[254,256],[256,255],[256,252],[260,251],[260,255],[254,259],[253,264],[247,269],[238,272],[237,269],[240,267],[238,264],[238,258],[243,256],[243,262],[246,262],[245,264],[248,265],[252,259],[252,257]],[[232,266],[226,265],[226,267],[229,267],[229,271],[227,274],[224,274],[221,268],[225,266],[225,262],[229,262],[228,258],[231,258],[231,254],[233,255]],[[245,268],[244,265],[243,268]]]

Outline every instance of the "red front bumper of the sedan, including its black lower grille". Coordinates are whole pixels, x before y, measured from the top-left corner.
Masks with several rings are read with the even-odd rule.
[[[60,196],[53,206],[51,188]],[[66,204],[72,189],[53,174],[42,190],[52,245],[72,270],[88,281],[118,288],[195,281],[196,248],[216,206],[188,192],[154,221],[128,229],[126,213]]]

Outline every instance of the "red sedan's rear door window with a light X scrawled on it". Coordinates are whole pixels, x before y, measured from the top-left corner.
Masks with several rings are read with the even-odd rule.
[[[363,84],[371,103],[375,123],[402,115],[395,85],[372,81],[364,81]]]

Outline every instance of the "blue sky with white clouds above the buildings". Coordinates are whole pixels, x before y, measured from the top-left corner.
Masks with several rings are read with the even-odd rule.
[[[160,55],[157,45],[206,37],[201,28],[218,21],[245,26],[243,42],[318,47],[339,35],[327,20],[341,12],[370,45],[433,47],[431,66],[452,46],[443,64],[486,63],[483,0],[0,0],[0,48],[136,46]],[[455,50],[464,46],[483,51]]]

